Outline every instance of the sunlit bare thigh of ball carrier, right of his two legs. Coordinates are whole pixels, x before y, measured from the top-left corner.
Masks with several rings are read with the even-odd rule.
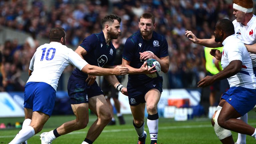
[[[161,93],[157,89],[149,90],[145,95],[145,101],[148,106],[156,106],[160,100]]]

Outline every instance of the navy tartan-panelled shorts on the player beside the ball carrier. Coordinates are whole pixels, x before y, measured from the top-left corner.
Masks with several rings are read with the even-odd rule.
[[[71,104],[88,103],[88,98],[103,94],[96,81],[89,86],[85,80],[78,81],[71,77],[68,80],[68,95]]]

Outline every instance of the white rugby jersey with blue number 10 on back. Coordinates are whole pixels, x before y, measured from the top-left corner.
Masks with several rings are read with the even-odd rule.
[[[69,64],[82,70],[88,63],[59,42],[41,45],[30,61],[29,69],[33,72],[27,83],[45,82],[56,90],[60,75]]]

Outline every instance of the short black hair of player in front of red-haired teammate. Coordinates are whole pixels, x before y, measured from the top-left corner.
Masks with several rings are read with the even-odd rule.
[[[218,27],[218,29],[224,31],[228,35],[235,34],[234,25],[229,19],[221,19],[220,21],[218,21],[218,25],[216,27]]]

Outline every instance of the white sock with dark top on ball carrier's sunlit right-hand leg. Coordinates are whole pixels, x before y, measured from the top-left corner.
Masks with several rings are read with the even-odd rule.
[[[150,133],[151,140],[157,140],[158,134],[158,119],[156,120],[147,120],[148,130]]]

